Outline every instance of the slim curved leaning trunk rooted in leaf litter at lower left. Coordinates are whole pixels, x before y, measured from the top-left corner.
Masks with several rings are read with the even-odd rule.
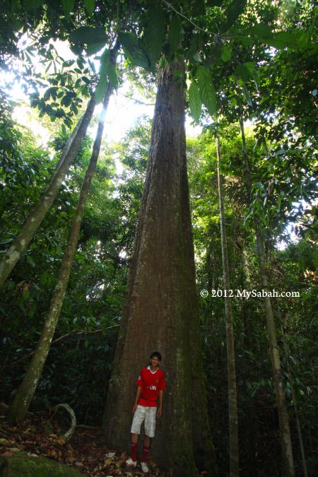
[[[90,157],[90,163],[88,165],[88,169],[84,178],[81,194],[78,200],[78,206],[76,208],[76,213],[71,225],[69,240],[67,242],[63,261],[59,270],[59,278],[57,281],[57,285],[54,288],[51,304],[49,306],[49,312],[47,314],[47,319],[45,320],[40,340],[37,343],[37,348],[35,349],[35,353],[33,354],[32,360],[30,361],[30,365],[28,366],[28,370],[25,374],[23,382],[20,384],[16,396],[14,397],[13,402],[8,410],[8,419],[11,421],[11,423],[16,422],[16,420],[18,422],[23,422],[25,418],[25,414],[28,411],[30,402],[32,401],[35,393],[35,389],[37,388],[37,383],[39,382],[39,379],[42,375],[42,370],[47,359],[47,354],[49,353],[51,341],[54,336],[55,329],[57,327],[59,314],[63,305],[64,295],[66,293],[66,288],[69,283],[69,276],[71,273],[73,259],[78,243],[78,235],[81,228],[81,221],[84,215],[85,204],[90,189],[90,182],[92,180],[96,163],[98,161],[98,155],[100,153],[102,131],[104,129],[105,116],[111,93],[112,86],[109,85],[107,87],[102,112],[100,114],[98,132],[96,134],[93,152]]]

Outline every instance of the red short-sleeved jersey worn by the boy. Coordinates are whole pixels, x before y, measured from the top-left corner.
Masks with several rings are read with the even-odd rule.
[[[150,366],[143,367],[136,384],[142,387],[138,404],[156,407],[159,391],[165,389],[165,373],[159,368],[152,372]]]

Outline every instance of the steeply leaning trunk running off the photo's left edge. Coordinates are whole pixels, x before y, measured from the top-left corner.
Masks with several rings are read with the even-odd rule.
[[[71,144],[68,141],[64,147],[62,156],[57,164],[57,171],[52,175],[49,187],[45,189],[39,203],[33,208],[33,211],[30,212],[22,229],[16,236],[15,240],[13,240],[12,245],[8,248],[4,257],[0,260],[0,287],[4,284],[6,278],[8,278],[18,260],[25,252],[25,249],[33,239],[37,229],[40,227],[42,220],[45,218],[45,214],[50,206],[52,206],[57,196],[57,192],[59,192],[59,187],[64,181],[66,172],[69,170],[69,167],[78,153],[78,149],[81,146],[83,137],[88,129],[88,124],[90,124],[90,119],[93,116],[94,108],[95,100],[91,98],[88,102],[86,112],[81,119],[81,124],[78,126],[76,135],[73,137]],[[62,160],[63,156],[64,159]]]

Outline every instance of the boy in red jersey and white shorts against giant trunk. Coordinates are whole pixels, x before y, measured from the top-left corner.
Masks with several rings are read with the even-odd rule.
[[[143,441],[143,454],[141,457],[141,470],[144,473],[149,471],[146,462],[151,439],[155,435],[155,416],[160,418],[163,413],[165,373],[159,369],[161,359],[158,351],[151,353],[150,365],[143,367],[136,381],[138,387],[133,406],[134,419],[131,425],[131,457],[126,460],[126,465],[136,467],[138,439],[141,424],[145,421],[145,440]],[[157,409],[158,396],[159,406]]]

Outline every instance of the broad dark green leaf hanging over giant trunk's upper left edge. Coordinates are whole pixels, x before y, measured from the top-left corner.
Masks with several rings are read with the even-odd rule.
[[[143,34],[143,49],[151,61],[153,68],[160,57],[163,40],[165,39],[165,13],[163,8],[155,6],[151,9],[145,32]]]

